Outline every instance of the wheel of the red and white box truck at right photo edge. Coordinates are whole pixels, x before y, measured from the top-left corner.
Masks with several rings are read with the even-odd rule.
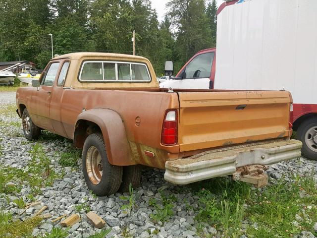
[[[303,142],[302,154],[317,160],[317,117],[305,120],[297,129],[296,138]]]

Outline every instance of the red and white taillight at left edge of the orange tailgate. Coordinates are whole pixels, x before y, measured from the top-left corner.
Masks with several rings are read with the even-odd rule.
[[[165,113],[161,143],[163,145],[176,145],[177,144],[177,111],[169,110]]]

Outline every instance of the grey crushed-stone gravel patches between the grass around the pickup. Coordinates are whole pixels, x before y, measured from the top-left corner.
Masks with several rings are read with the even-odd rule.
[[[0,93],[0,109],[5,107],[5,104],[12,104],[14,102],[15,93]],[[20,121],[17,116],[8,118],[8,116],[5,115],[0,115],[0,121],[1,120],[9,120],[11,122]],[[27,167],[28,162],[31,160],[29,151],[36,142],[28,142],[22,135],[22,127],[0,126],[0,138],[3,139],[0,142],[2,146],[0,166],[9,165],[20,169]],[[62,168],[58,164],[58,156],[56,157],[56,153],[61,153],[69,148],[71,146],[70,140],[56,139],[48,136],[45,140],[41,141],[40,144],[43,146],[46,156],[51,159],[52,169],[56,174],[63,173],[64,176],[62,179],[55,179],[52,186],[41,188],[42,194],[35,197],[37,201],[42,201],[41,205],[45,204],[48,206],[48,209],[43,212],[43,214],[50,213],[52,218],[46,219],[39,228],[35,228],[33,235],[50,232],[53,226],[55,226],[55,224],[52,223],[54,218],[63,214],[77,213],[76,206],[86,204],[86,206],[89,206],[92,211],[106,221],[105,228],[112,227],[107,237],[122,237],[124,233],[141,238],[198,237],[194,217],[198,213],[199,197],[194,195],[188,186],[175,186],[164,181],[163,171],[157,169],[144,170],[141,187],[135,188],[136,209],[134,209],[130,215],[121,209],[121,206],[127,204],[127,202],[120,199],[120,196],[127,196],[127,193],[117,193],[107,197],[97,198],[88,190],[85,184],[80,162],[78,162],[78,167],[75,168]],[[268,174],[274,180],[279,179],[285,171],[304,174],[313,168],[317,171],[316,161],[299,158],[271,166],[268,170]],[[150,214],[153,214],[155,210],[153,205],[151,205],[151,201],[153,201],[153,199],[157,201],[162,199],[159,191],[163,191],[166,195],[174,194],[176,198],[173,202],[174,207],[172,208],[174,215],[164,223],[155,223],[150,218]],[[29,201],[28,195],[30,193],[30,186],[24,184],[20,193],[16,196],[10,196],[10,200],[12,201],[18,197],[23,197],[25,201]],[[186,209],[184,200],[193,207],[193,210]],[[2,205],[4,205],[4,200],[0,199],[0,206]],[[31,207],[27,209],[23,215],[20,215],[23,209],[18,209],[12,202],[9,205],[5,205],[5,210],[14,214],[15,218],[22,220],[34,216],[37,209],[39,209],[39,206],[35,208]],[[80,211],[79,213],[82,221],[70,228],[70,238],[87,238],[100,231],[89,223],[85,211]],[[205,237],[222,237],[221,231],[217,231],[208,224],[204,224],[203,231],[206,235]],[[245,237],[246,236],[243,235],[241,238]],[[305,236],[305,234],[302,234],[297,237],[314,238],[314,235],[309,234],[309,236]]]

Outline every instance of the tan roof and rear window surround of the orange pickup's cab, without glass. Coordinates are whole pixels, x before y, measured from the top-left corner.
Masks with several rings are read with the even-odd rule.
[[[150,60],[132,55],[113,54],[113,53],[99,53],[99,52],[77,52],[70,53],[61,56],[56,56],[53,60],[60,60],[68,58],[71,60],[70,67],[68,69],[66,81],[64,87],[72,88],[159,88],[159,83],[156,79],[153,66]],[[82,62],[85,60],[118,60],[118,61],[131,61],[140,62],[148,65],[151,75],[151,82],[80,82],[78,80],[78,74]]]

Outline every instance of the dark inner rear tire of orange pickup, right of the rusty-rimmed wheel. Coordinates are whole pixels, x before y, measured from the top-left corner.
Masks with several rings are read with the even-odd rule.
[[[133,188],[137,188],[141,184],[142,167],[140,165],[123,166],[122,183],[119,192],[129,191],[130,183]]]

